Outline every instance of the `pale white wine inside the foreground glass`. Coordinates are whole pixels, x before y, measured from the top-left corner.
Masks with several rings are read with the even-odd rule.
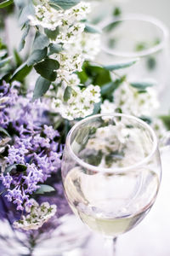
[[[88,175],[75,167],[64,185],[71,208],[82,222],[113,237],[131,230],[144,218],[156,199],[159,179],[144,168],[107,176]]]

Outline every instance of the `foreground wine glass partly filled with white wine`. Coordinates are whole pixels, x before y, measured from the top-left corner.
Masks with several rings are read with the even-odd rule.
[[[154,131],[121,113],[77,122],[66,138],[61,168],[72,211],[114,242],[150,211],[161,181]]]

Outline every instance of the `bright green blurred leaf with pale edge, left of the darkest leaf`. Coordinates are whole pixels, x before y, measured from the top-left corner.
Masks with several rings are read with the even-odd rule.
[[[18,67],[12,77],[11,77],[11,81],[17,80],[22,82],[26,76],[31,72],[31,68],[32,67],[28,67],[26,62],[24,62],[22,65],[20,65],[20,67]]]

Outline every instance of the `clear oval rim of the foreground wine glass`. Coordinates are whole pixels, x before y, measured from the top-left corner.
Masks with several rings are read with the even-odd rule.
[[[147,128],[148,131],[150,131],[150,135],[153,139],[153,146],[152,146],[152,150],[150,152],[150,154],[148,154],[146,157],[144,157],[143,160],[139,160],[139,162],[137,164],[134,164],[132,166],[127,166],[127,167],[114,167],[114,168],[105,168],[105,167],[99,167],[99,166],[92,166],[86,162],[84,162],[83,160],[81,160],[77,154],[75,154],[71,148],[71,136],[72,133],[77,129],[77,127],[79,125],[82,125],[83,123],[86,123],[88,120],[90,119],[95,119],[95,118],[99,118],[99,117],[124,117],[127,119],[133,119],[135,120],[137,123],[139,123],[140,125],[144,126],[145,128]],[[82,119],[81,121],[78,121],[76,125],[73,125],[73,127],[71,128],[71,131],[69,131],[67,138],[66,138],[66,142],[65,142],[65,146],[68,148],[69,150],[69,154],[71,154],[71,157],[77,161],[77,163],[80,166],[83,166],[84,168],[90,170],[90,171],[94,171],[94,172],[106,172],[106,173],[121,173],[121,172],[126,172],[126,171],[131,171],[139,166],[143,166],[145,163],[147,163],[150,158],[156,153],[156,150],[158,149],[158,141],[157,141],[157,137],[156,137],[156,133],[155,131],[153,131],[153,129],[150,127],[150,125],[148,125],[147,123],[145,123],[142,119],[136,118],[133,115],[129,115],[129,114],[125,114],[125,113],[99,113],[99,114],[95,114],[92,116],[89,116],[85,119]]]

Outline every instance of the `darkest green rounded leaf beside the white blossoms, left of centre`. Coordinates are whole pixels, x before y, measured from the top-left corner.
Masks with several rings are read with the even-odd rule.
[[[59,62],[53,59],[45,59],[34,66],[37,73],[39,73],[42,78],[48,79],[49,81],[54,81],[57,78],[57,73],[54,70],[59,68]]]

